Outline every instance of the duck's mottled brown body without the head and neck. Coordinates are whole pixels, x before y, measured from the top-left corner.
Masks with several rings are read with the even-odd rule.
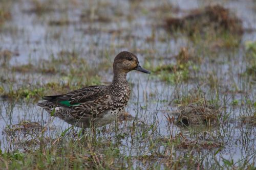
[[[130,96],[127,84],[89,86],[62,95],[45,96],[38,106],[72,125],[87,128],[109,124],[123,111]],[[97,125],[98,124],[98,125]]]

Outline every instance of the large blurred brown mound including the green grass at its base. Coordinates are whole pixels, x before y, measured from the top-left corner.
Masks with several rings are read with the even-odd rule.
[[[242,21],[229,9],[220,5],[210,5],[190,10],[183,17],[167,17],[165,28],[174,36],[186,34],[200,46],[210,51],[220,51],[223,48],[238,48],[243,35]]]

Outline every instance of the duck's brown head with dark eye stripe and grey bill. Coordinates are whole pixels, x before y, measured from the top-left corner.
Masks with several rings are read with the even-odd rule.
[[[139,64],[138,58],[130,52],[119,53],[114,60],[114,72],[129,72],[132,70],[138,70],[150,74],[150,71],[142,68]]]

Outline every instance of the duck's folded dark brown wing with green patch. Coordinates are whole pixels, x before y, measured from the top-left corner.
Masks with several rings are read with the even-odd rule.
[[[89,101],[108,98],[106,95],[109,95],[106,86],[89,86],[71,91],[66,94],[44,96],[42,99],[55,105],[72,107],[87,103]]]

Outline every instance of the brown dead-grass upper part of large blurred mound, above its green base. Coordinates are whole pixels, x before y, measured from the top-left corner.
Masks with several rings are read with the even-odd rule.
[[[171,31],[184,30],[189,35],[193,35],[196,32],[205,33],[209,31],[227,31],[234,34],[243,32],[241,19],[220,5],[191,10],[184,17],[169,17],[165,22],[166,27]]]

